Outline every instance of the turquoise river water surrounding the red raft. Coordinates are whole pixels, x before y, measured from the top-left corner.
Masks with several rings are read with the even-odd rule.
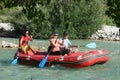
[[[10,41],[18,43],[18,39],[0,38],[0,41]],[[78,45],[86,45],[96,42],[96,49],[106,49],[110,60],[103,65],[95,65],[81,69],[64,68],[59,65],[55,67],[30,67],[26,65],[11,65],[14,53],[17,49],[0,49],[0,80],[120,80],[120,42],[112,41],[91,41],[91,40],[71,40]],[[31,45],[47,47],[48,40],[34,40]],[[80,47],[80,51],[89,51],[85,47]]]

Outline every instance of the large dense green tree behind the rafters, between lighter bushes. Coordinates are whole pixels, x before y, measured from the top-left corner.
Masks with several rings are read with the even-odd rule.
[[[36,24],[36,37],[49,38],[51,32],[64,30],[71,38],[88,38],[103,23],[104,0],[36,0],[24,6],[28,19]],[[47,30],[46,30],[47,29]],[[38,35],[39,33],[39,35]]]

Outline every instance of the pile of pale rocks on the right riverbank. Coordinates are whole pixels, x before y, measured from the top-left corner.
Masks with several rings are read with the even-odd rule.
[[[116,26],[103,25],[102,29],[93,34],[90,39],[120,41],[120,28],[117,28]]]

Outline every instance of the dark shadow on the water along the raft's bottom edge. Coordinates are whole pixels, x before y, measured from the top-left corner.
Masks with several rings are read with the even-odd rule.
[[[36,69],[41,69],[41,70],[52,70],[52,71],[55,71],[55,70],[60,70],[60,71],[78,71],[80,69],[82,70],[95,70],[95,67],[97,66],[102,66],[101,69],[105,69],[106,66],[103,66],[104,64],[100,64],[100,65],[93,65],[93,66],[89,66],[89,67],[84,67],[84,68],[68,68],[68,67],[63,67],[63,66],[60,66],[59,64],[58,65],[52,65],[52,66],[45,66],[43,68],[39,68],[38,67],[38,64],[28,64],[28,63],[19,63],[19,65],[22,65],[22,66],[26,66],[26,67],[29,67],[29,68],[36,68]],[[97,68],[96,67],[96,68]],[[98,68],[96,69],[98,70]]]

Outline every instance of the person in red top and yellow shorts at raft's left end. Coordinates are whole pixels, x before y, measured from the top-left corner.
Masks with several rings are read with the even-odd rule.
[[[22,51],[24,51],[25,54],[28,54],[28,51],[31,49],[28,45],[29,41],[33,41],[33,38],[31,35],[29,35],[29,31],[25,31],[25,33],[21,36],[19,41],[19,47],[22,49]]]

